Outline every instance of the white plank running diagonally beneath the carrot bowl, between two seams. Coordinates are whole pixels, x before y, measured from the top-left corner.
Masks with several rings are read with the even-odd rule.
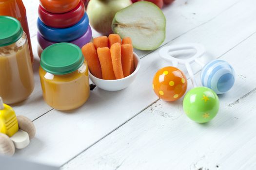
[[[216,58],[255,32],[256,24],[251,16],[256,11],[252,3],[252,0],[240,1],[172,43],[202,43]],[[236,20],[233,20],[234,17]],[[242,32],[244,28],[246,32]],[[16,156],[62,165],[156,101],[157,97],[151,89],[152,77],[158,68],[169,64],[158,58],[158,51],[142,58],[141,62],[137,79],[127,89],[118,92],[94,90],[81,108],[65,113],[53,110],[35,120],[36,139]],[[65,154],[62,154],[63,148]]]

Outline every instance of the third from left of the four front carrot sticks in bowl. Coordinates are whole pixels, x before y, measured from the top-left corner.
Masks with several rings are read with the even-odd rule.
[[[121,79],[124,77],[122,69],[121,44],[113,44],[110,48],[110,53],[115,76],[117,79]]]

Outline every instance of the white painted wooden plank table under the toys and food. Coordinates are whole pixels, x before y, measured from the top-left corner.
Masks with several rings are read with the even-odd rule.
[[[107,92],[96,87],[77,110],[50,108],[42,99],[38,76],[39,2],[23,1],[36,56],[36,86],[14,109],[34,121],[37,135],[16,157],[63,170],[256,169],[255,0],[176,0],[163,9],[167,34],[162,46],[201,43],[207,50],[204,63],[220,58],[236,70],[235,86],[219,96],[220,111],[207,124],[188,119],[182,99],[164,102],[154,94],[155,72],[170,65],[159,59],[158,50],[136,51],[142,65],[127,89]],[[199,83],[199,67],[193,69]]]

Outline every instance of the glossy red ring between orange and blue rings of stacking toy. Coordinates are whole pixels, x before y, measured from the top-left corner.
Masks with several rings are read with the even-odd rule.
[[[38,14],[41,21],[45,25],[53,28],[67,28],[77,24],[83,17],[84,12],[84,4],[81,1],[72,11],[61,14],[50,13],[41,5],[39,5],[38,8]]]

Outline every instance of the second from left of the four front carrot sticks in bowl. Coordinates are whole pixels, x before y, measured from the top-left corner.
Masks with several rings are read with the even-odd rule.
[[[111,54],[108,47],[98,48],[98,59],[101,65],[102,77],[104,80],[116,80]]]

